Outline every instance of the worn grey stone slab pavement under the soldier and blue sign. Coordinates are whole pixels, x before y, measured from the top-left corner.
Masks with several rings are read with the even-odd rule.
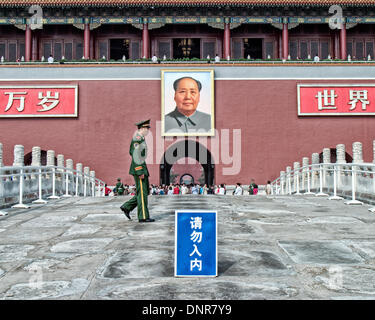
[[[0,299],[375,299],[375,214],[314,196],[66,198],[0,217]],[[218,210],[219,276],[174,277],[174,210]],[[135,218],[135,212],[132,213]]]

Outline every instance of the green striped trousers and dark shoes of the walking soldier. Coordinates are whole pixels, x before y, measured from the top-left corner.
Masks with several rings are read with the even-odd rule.
[[[149,193],[149,183],[148,177],[145,176],[144,179],[140,179],[139,176],[134,176],[136,194],[130,200],[125,202],[121,207],[132,211],[137,207],[138,220],[149,219],[150,215],[148,212],[148,202],[147,197]]]

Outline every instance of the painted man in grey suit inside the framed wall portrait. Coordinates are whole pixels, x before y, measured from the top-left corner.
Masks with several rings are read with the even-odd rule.
[[[211,115],[197,110],[202,84],[191,77],[173,83],[176,108],[165,115],[166,133],[195,133],[211,130]]]

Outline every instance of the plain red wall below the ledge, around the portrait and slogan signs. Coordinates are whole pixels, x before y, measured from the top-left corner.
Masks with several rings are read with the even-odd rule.
[[[311,159],[313,152],[335,148],[344,143],[352,154],[352,143],[363,143],[364,160],[372,162],[372,141],[375,138],[374,118],[366,117],[298,117],[298,83],[375,83],[375,81],[300,81],[300,80],[216,80],[216,129],[241,129],[241,168],[234,175],[223,175],[222,164],[215,159],[215,183],[248,184],[254,178],[264,184],[293,166],[302,157]],[[80,80],[80,81],[17,81],[1,85],[78,84],[78,118],[0,119],[0,142],[3,143],[4,164],[13,162],[13,146],[25,146],[25,154],[33,146],[53,149],[82,162],[96,171],[96,176],[113,185],[121,177],[133,183],[128,175],[129,143],[134,123],[151,118],[154,152],[158,162],[156,121],[161,118],[160,80]],[[4,107],[5,106],[0,106]],[[169,139],[173,140],[173,139]],[[208,138],[210,140],[210,138]],[[232,155],[232,139],[230,140]],[[166,142],[165,148],[173,142]],[[160,156],[160,157],[159,157]],[[150,182],[159,183],[159,164],[149,165]]]

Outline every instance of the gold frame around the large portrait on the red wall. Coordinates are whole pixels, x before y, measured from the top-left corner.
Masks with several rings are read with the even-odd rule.
[[[166,75],[175,73],[178,74],[176,79],[190,76],[190,74],[206,73],[209,75],[209,88],[210,93],[208,97],[210,99],[210,116],[211,116],[211,129],[207,132],[194,132],[194,133],[184,133],[184,132],[165,132],[165,82]],[[207,82],[202,83],[202,88],[207,86]],[[213,69],[162,69],[161,70],[161,135],[164,137],[192,137],[192,136],[214,136],[215,135],[215,92],[214,92],[214,70]],[[199,107],[198,107],[199,108]]]

